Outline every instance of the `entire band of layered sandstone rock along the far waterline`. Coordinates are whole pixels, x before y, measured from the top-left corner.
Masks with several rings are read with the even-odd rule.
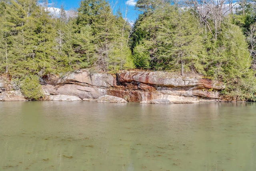
[[[182,77],[169,72],[121,72],[111,75],[79,70],[65,76],[44,76],[40,81],[48,97],[46,100],[62,101],[96,101],[99,97],[103,99],[98,101],[122,101],[112,99],[111,96],[114,96],[124,101],[143,103],[196,103],[220,101],[220,91],[225,88],[220,82],[196,74]],[[7,100],[10,95],[5,92],[12,89],[10,80],[0,78],[0,100]],[[77,99],[73,99],[74,96]]]

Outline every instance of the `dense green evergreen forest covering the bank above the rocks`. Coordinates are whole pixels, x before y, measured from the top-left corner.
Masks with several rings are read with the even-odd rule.
[[[224,82],[226,97],[256,101],[253,0],[138,0],[135,8],[130,24],[105,0],[58,14],[47,0],[0,0],[0,75],[26,94],[38,78],[84,68],[196,73]]]

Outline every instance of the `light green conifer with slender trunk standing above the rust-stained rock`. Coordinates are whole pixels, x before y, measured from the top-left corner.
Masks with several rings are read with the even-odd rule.
[[[180,63],[182,76],[184,69],[203,72],[200,64],[202,60],[200,58],[204,57],[202,56],[204,54],[203,39],[198,27],[196,18],[186,9],[183,12],[174,11],[170,26],[166,27],[167,33],[164,37],[169,39],[166,42],[170,42],[172,47],[165,53],[173,58],[172,68],[177,66],[174,63]]]

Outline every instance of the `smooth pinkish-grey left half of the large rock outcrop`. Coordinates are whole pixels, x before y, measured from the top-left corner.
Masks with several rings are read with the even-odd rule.
[[[51,95],[73,95],[80,99],[97,99],[106,95],[107,88],[114,87],[116,79],[105,73],[92,73],[80,70],[66,76],[50,75],[42,85],[45,93]]]

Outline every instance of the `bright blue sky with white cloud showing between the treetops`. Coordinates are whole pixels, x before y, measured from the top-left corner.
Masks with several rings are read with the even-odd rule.
[[[118,8],[122,12],[124,18],[127,18],[129,22],[135,22],[138,17],[138,11],[134,9],[137,0],[107,0],[110,6],[114,9],[115,13]],[[63,4],[65,10],[76,10],[79,8],[81,0],[48,0],[50,7],[60,8]],[[125,12],[127,14],[125,16]]]

